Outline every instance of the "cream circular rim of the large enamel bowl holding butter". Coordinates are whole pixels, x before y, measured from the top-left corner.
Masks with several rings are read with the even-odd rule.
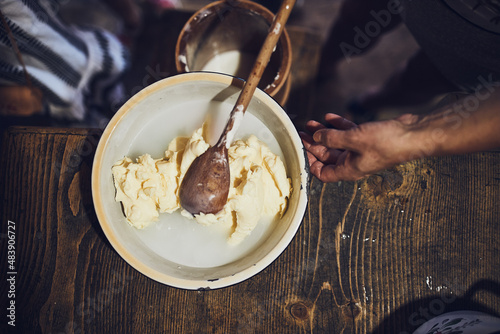
[[[305,156],[305,151],[303,148],[302,141],[298,135],[295,126],[291,122],[290,118],[283,110],[283,108],[268,94],[260,89],[257,89],[254,97],[260,99],[266,105],[268,105],[275,113],[278,113],[280,119],[283,120],[284,125],[287,127],[287,133],[290,134],[291,140],[293,141],[294,147],[297,148],[297,156],[300,164],[300,189],[294,189],[298,192],[297,209],[296,214],[293,216],[290,226],[286,230],[283,237],[279,242],[272,248],[272,250],[267,253],[263,258],[252,266],[243,269],[242,271],[236,272],[233,275],[220,277],[216,280],[198,280],[198,279],[185,279],[174,277],[163,272],[159,272],[147,264],[142,262],[137,258],[125,245],[123,245],[120,240],[118,240],[115,235],[110,223],[107,220],[107,216],[104,211],[105,202],[103,201],[103,196],[100,191],[100,184],[104,182],[101,180],[101,169],[103,168],[102,160],[103,154],[106,150],[106,146],[113,135],[114,130],[120,123],[120,121],[126,117],[126,115],[133,109],[133,107],[141,101],[147,98],[151,93],[156,92],[159,89],[163,89],[168,86],[178,85],[181,83],[189,81],[212,81],[217,84],[223,84],[227,86],[231,85],[241,85],[241,80],[234,78],[232,76],[220,73],[211,72],[188,72],[183,74],[177,74],[165,79],[162,79],[150,86],[147,86],[143,90],[139,91],[136,95],[130,98],[114,115],[110,120],[106,128],[104,129],[102,136],[96,148],[94,162],[92,166],[92,197],[94,202],[94,208],[99,221],[99,224],[106,235],[106,238],[114,248],[114,250],[133,268],[142,274],[148,276],[149,278],[156,280],[160,283],[189,290],[199,290],[199,289],[217,289],[240,283],[268,267],[272,262],[274,262],[281,253],[288,247],[292,242],[298,228],[300,227],[302,220],[304,218],[305,210],[308,202],[308,184],[309,184],[309,166],[307,158]],[[236,80],[236,81],[235,81]],[[240,82],[240,83],[238,83]],[[114,200],[114,199],[113,199]]]

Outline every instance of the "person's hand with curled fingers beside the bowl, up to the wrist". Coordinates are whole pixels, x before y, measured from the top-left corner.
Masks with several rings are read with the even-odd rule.
[[[323,182],[354,181],[405,161],[407,125],[417,116],[356,125],[336,114],[326,114],[333,129],[309,121],[301,132],[311,173]],[[411,149],[411,148],[410,148]]]

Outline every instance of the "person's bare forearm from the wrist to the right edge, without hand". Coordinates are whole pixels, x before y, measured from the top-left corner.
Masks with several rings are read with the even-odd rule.
[[[467,96],[419,119],[409,126],[405,137],[405,160],[500,147],[500,89]]]

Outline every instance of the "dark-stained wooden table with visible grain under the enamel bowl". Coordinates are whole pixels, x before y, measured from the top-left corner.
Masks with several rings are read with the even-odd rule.
[[[287,111],[300,120],[319,39],[291,31]],[[275,262],[228,288],[185,291],[134,270],[103,234],[90,191],[100,134],[5,133],[2,333],[12,301],[23,333],[411,333],[451,310],[500,314],[500,152],[414,161],[358,182],[312,179],[302,225]]]

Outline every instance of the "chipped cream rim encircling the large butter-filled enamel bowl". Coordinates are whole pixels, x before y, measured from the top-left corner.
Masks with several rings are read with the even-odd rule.
[[[254,94],[254,99],[256,98],[261,103],[264,103],[266,107],[269,107],[272,110],[274,115],[279,118],[279,121],[285,128],[286,133],[290,136],[290,140],[292,142],[291,144],[294,147],[294,152],[293,153],[284,152],[284,154],[285,155],[292,154],[294,159],[292,162],[297,163],[300,166],[299,167],[300,187],[298,187],[299,189],[295,189],[295,187],[293,189],[294,192],[293,196],[298,196],[297,198],[294,199],[296,205],[294,205],[293,208],[289,207],[287,209],[287,213],[285,213],[286,215],[288,214],[288,210],[294,210],[293,212],[291,211],[290,213],[293,214],[293,216],[291,218],[288,218],[291,219],[288,228],[285,230],[285,232],[281,237],[277,236],[279,240],[275,243],[274,246],[272,246],[271,250],[267,254],[262,256],[255,263],[246,263],[244,265],[240,264],[239,266],[236,267],[241,267],[241,268],[235,269],[234,272],[222,275],[220,277],[217,276],[217,274],[214,274],[215,272],[218,271],[219,267],[217,268],[185,267],[182,270],[188,272],[181,273],[181,271],[177,271],[179,275],[174,275],[173,272],[176,272],[176,270],[173,269],[169,270],[171,271],[170,273],[166,273],[161,270],[155,269],[148,262],[153,263],[153,261],[157,259],[147,259],[147,261],[141,260],[138,254],[140,253],[139,255],[144,256],[143,254],[147,252],[137,251],[137,249],[134,250],[132,249],[134,247],[126,244],[125,242],[123,242],[123,240],[120,239],[119,233],[115,231],[114,227],[112,226],[109,220],[110,218],[106,214],[105,207],[106,205],[110,205],[109,204],[110,201],[107,198],[106,199],[103,198],[102,188],[101,188],[105,186],[106,182],[108,184],[109,182],[111,182],[112,184],[112,181],[105,180],[102,175],[103,168],[109,168],[109,169],[111,168],[111,166],[103,165],[103,157],[107,149],[109,149],[108,143],[112,139],[114,132],[117,126],[120,124],[120,122],[122,122],[129,113],[133,113],[134,107],[140,101],[146,99],[152,93],[182,83],[196,82],[196,81],[209,81],[218,85],[222,84],[225,87],[237,86],[238,88],[241,88],[242,86],[241,80],[233,78],[229,75],[219,74],[219,73],[209,73],[209,72],[190,72],[160,80],[138,92],[118,110],[118,112],[111,119],[111,121],[109,122],[109,124],[107,125],[101,136],[101,139],[96,149],[94,162],[92,166],[92,196],[97,218],[99,220],[100,226],[104,234],[106,235],[107,239],[109,240],[113,248],[116,250],[116,252],[137,271],[141,272],[142,274],[148,276],[153,280],[156,280],[160,283],[172,287],[189,289],[189,290],[218,289],[234,285],[236,283],[242,282],[256,275],[257,273],[265,269],[267,266],[269,266],[276,258],[278,258],[278,256],[286,249],[286,247],[289,245],[289,243],[295,236],[302,222],[307,207],[309,166],[307,163],[307,158],[304,153],[305,150],[302,141],[295,129],[295,126],[291,122],[286,112],[268,94],[264,93],[260,89],[257,89]],[[250,107],[249,111],[251,112]],[[112,200],[114,202],[114,198]],[[259,251],[257,251],[256,253],[260,252],[261,251],[259,249]],[[243,262],[244,260],[241,261]],[[166,263],[165,266],[168,265],[168,262],[169,261],[165,259]],[[176,266],[176,264],[173,262],[172,265]],[[230,268],[230,266],[231,264],[223,266],[226,272],[229,271],[228,268]]]

